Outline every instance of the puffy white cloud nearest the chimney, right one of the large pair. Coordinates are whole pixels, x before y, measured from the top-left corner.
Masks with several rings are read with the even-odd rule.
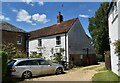
[[[32,15],[32,19],[34,21],[40,22],[40,23],[46,23],[48,21],[50,21],[49,19],[47,19],[47,16],[45,14],[34,14]]]

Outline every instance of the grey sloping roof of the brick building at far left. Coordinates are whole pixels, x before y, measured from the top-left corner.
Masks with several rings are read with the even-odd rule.
[[[20,28],[17,28],[7,22],[0,22],[0,30],[26,33],[26,31],[24,31]]]

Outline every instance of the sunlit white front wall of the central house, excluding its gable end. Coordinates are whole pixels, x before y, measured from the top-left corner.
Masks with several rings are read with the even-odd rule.
[[[57,46],[56,45],[56,36],[61,36],[61,45]],[[39,39],[39,38],[38,38]],[[37,52],[41,53],[37,47],[38,47],[38,39],[30,40],[29,41],[29,53],[31,52]],[[42,56],[44,56],[46,59],[52,59],[50,56],[52,55],[51,49],[54,49],[54,53],[56,53],[56,48],[64,48],[65,50],[65,34],[58,34],[58,35],[53,35],[53,36],[47,36],[47,37],[42,37]],[[67,36],[66,36],[67,39]],[[67,42],[66,42],[67,44]],[[67,50],[66,50],[67,51]],[[65,51],[63,56],[65,56]]]

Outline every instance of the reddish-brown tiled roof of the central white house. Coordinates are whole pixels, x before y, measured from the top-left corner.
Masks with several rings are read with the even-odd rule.
[[[69,31],[69,29],[71,28],[71,26],[74,24],[74,22],[77,19],[78,18],[74,18],[71,20],[63,21],[60,24],[54,24],[52,26],[48,26],[48,27],[41,28],[35,31],[31,31],[30,39],[66,33]]]

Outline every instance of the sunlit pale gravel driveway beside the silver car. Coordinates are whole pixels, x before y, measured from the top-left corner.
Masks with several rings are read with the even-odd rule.
[[[26,81],[91,81],[96,70],[104,67],[104,63],[99,65],[92,65],[81,68],[73,68],[71,70],[65,71],[65,74],[61,75],[47,75],[39,76],[36,78],[27,79]]]

